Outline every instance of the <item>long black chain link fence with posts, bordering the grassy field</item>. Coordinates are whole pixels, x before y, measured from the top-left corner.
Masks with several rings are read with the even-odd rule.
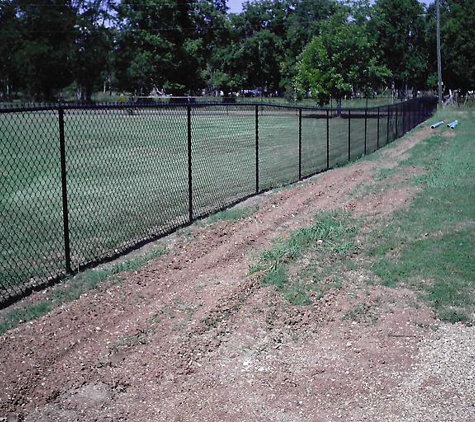
[[[251,195],[370,153],[432,98],[0,108],[0,306]]]

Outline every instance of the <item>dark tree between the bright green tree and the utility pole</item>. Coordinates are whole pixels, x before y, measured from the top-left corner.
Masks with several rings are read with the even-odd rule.
[[[409,86],[424,86],[427,49],[423,5],[417,0],[377,0],[370,25],[395,87],[406,91]]]

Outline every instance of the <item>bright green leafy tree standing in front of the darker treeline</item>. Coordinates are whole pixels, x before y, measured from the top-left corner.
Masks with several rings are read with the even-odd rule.
[[[350,21],[347,13],[339,13],[321,25],[320,35],[300,55],[297,89],[301,94],[310,92],[319,105],[331,98],[340,103],[357,90],[368,95],[391,76],[374,52],[366,27]]]

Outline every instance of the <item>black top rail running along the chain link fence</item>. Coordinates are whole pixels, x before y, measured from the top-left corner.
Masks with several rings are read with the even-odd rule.
[[[34,112],[34,111],[55,111],[55,110],[120,110],[120,109],[164,109],[164,108],[208,108],[208,107],[259,107],[260,109],[283,109],[283,110],[303,110],[303,111],[321,111],[321,112],[334,112],[337,107],[312,107],[312,106],[298,106],[298,105],[283,105],[263,103],[257,101],[249,102],[186,102],[186,98],[183,98],[184,102],[126,102],[126,103],[55,103],[55,104],[18,104],[18,105],[1,105],[0,114],[5,113],[20,113],[20,112]],[[343,113],[377,111],[379,109],[391,109],[404,107],[410,104],[426,103],[434,105],[437,103],[436,97],[421,97],[412,98],[401,103],[389,104],[385,106],[373,106],[373,107],[341,107],[340,110]]]

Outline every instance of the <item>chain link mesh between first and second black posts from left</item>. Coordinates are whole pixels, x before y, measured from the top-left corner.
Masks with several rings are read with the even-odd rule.
[[[73,269],[187,221],[186,122],[184,107],[67,111]]]

